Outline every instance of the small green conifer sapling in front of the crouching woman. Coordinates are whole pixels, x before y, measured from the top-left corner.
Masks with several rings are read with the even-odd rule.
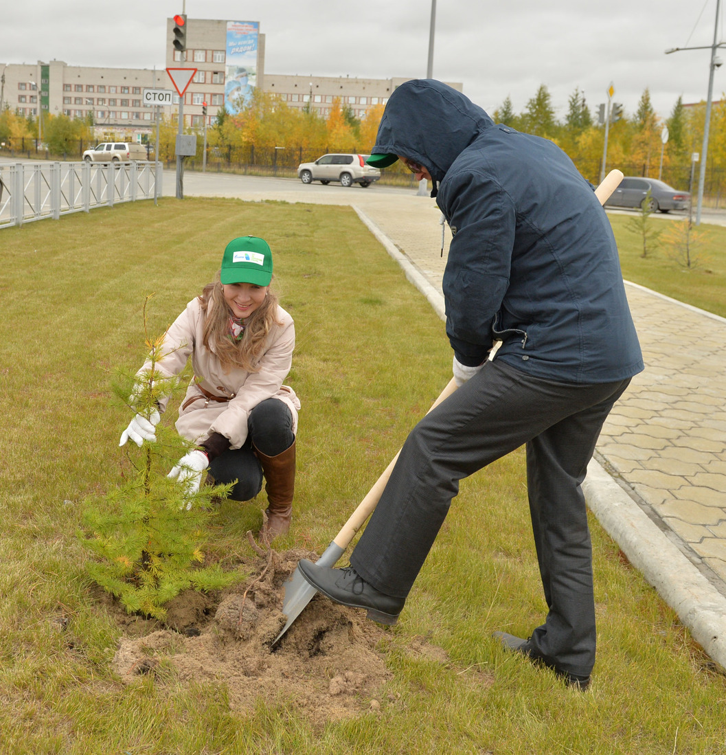
[[[180,393],[176,377],[168,377],[158,362],[165,356],[165,334],[149,338],[144,331],[148,366],[140,374],[118,374],[114,393],[134,412],[149,418],[158,401]],[[87,501],[82,543],[97,560],[88,574],[104,590],[117,596],[129,613],[163,619],[165,603],[182,590],[220,590],[244,578],[205,565],[202,547],[205,524],[214,510],[213,498],[225,498],[232,485],[201,485],[189,495],[179,482],[168,479],[174,463],[194,444],[173,428],[159,423],[155,442],[141,448],[129,443],[132,473],[117,489]]]

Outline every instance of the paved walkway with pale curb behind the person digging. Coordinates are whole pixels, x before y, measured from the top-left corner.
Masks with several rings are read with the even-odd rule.
[[[206,183],[187,174],[185,194],[214,193]],[[260,193],[259,186],[254,192],[232,186],[221,196],[352,205],[443,316],[451,234],[447,227],[441,257],[434,200],[376,187]],[[588,504],[726,667],[726,319],[635,284],[626,288],[646,369],[603,428],[585,485]]]

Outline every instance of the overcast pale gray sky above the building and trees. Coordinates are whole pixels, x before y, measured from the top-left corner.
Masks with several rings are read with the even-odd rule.
[[[0,66],[64,60],[70,65],[165,66],[166,19],[186,9],[195,18],[259,21],[268,73],[387,79],[425,76],[430,0],[33,0],[5,2]],[[186,6],[186,8],[185,8]],[[437,0],[433,76],[462,82],[494,111],[507,96],[521,112],[546,85],[558,118],[583,91],[592,111],[607,99],[626,115],[645,88],[669,116],[679,96],[706,100],[710,50],[666,55],[668,48],[709,47],[716,0]],[[718,42],[724,39],[718,23]],[[724,48],[726,60],[726,48]],[[713,99],[726,89],[715,71]]]

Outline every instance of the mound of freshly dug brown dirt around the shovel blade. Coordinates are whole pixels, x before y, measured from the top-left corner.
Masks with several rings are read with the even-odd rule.
[[[130,684],[145,673],[170,683],[221,682],[232,710],[284,700],[314,724],[378,710],[390,676],[377,650],[386,631],[364,612],[316,595],[272,647],[285,626],[285,580],[301,558],[315,554],[270,550],[246,565],[244,584],[214,599],[188,590],[168,604],[165,626],[119,609],[125,636],[114,670]]]

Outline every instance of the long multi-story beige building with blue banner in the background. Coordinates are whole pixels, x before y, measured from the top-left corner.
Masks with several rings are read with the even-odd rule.
[[[321,116],[328,115],[338,97],[356,118],[363,118],[408,81],[266,73],[265,35],[256,21],[188,19],[186,51],[176,51],[173,43],[174,20],[169,18],[166,67],[196,69],[184,94],[183,118],[186,126],[197,128],[205,120],[211,125],[220,109],[236,112],[255,87],[278,94],[288,106],[311,108]],[[143,140],[154,126],[154,107],[143,104],[145,88],[173,91],[172,105],[161,111],[171,119],[177,116],[179,95],[165,69],[69,66],[62,60],[0,66],[0,109],[7,106],[39,119],[41,139],[43,116],[63,113],[70,118],[91,116],[99,139]],[[461,91],[460,83],[450,83]]]

